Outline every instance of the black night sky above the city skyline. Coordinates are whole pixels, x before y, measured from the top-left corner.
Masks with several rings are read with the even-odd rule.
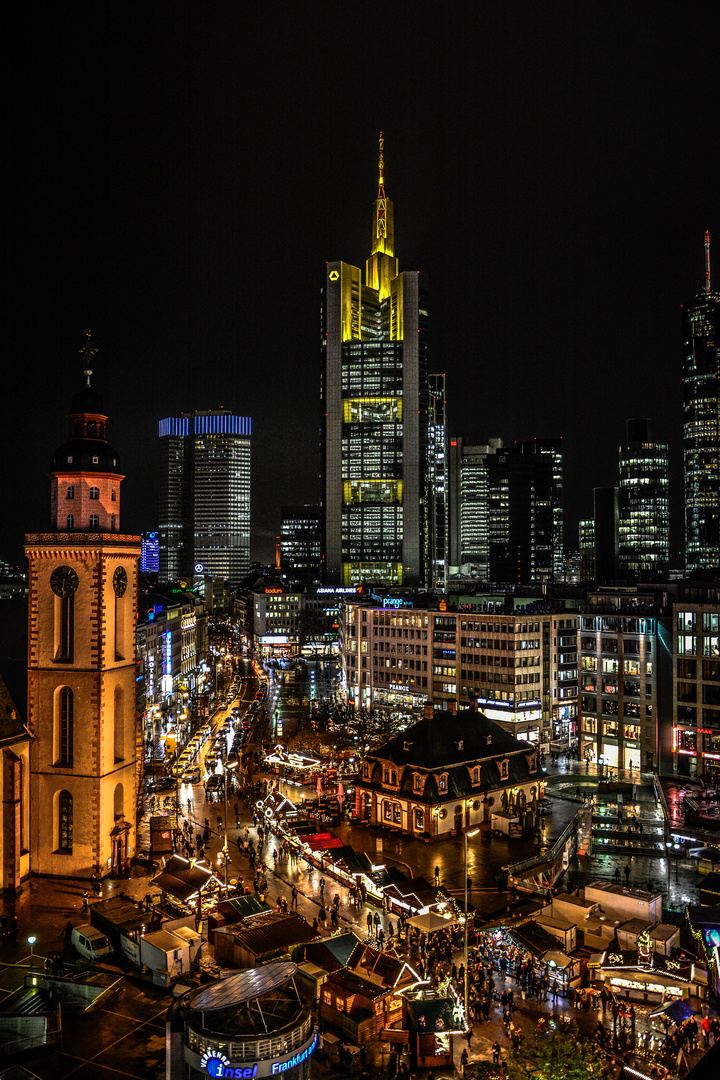
[[[47,527],[83,384],[157,527],[158,420],[254,424],[253,557],[318,497],[318,291],[364,266],[385,139],[400,269],[431,281],[449,433],[563,436],[566,541],[626,418],[674,462],[681,309],[718,214],[720,5],[40,4],[11,44],[0,559]],[[423,14],[424,12],[424,14]]]

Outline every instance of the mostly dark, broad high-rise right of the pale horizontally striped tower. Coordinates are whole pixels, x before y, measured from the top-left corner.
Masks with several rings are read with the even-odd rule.
[[[486,468],[490,580],[562,580],[561,441],[515,443],[489,455]]]

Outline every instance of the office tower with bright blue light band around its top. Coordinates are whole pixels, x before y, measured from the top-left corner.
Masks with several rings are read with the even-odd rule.
[[[160,421],[160,581],[247,573],[250,435],[249,417],[222,409]]]

